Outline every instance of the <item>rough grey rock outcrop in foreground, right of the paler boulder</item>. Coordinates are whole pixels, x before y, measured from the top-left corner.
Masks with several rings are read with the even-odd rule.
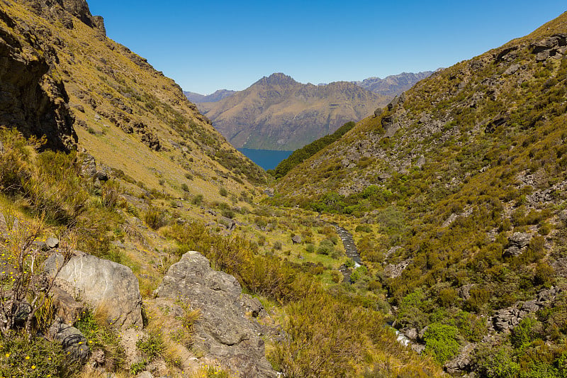
[[[160,297],[186,301],[201,310],[194,347],[240,377],[276,377],[266,360],[257,323],[245,318],[242,289],[235,277],[210,269],[198,252],[187,252],[169,268],[157,289]]]

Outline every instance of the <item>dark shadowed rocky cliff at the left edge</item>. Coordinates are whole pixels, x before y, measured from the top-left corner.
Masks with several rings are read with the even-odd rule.
[[[14,23],[3,11],[0,20],[0,124],[27,137],[46,135],[47,148],[68,150],[77,141],[69,96],[50,71],[55,50],[39,42],[51,38],[49,31]]]

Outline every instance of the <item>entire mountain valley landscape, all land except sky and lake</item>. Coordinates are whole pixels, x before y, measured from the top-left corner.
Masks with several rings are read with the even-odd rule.
[[[0,0],[0,52],[1,377],[566,377],[567,13],[203,97],[84,0]]]

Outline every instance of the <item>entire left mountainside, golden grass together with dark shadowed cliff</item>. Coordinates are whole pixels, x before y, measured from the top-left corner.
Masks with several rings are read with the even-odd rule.
[[[186,184],[213,199],[214,186],[240,193],[265,182],[172,79],[106,38],[85,1],[10,2],[0,16],[6,126],[46,135],[50,148],[84,148],[108,169],[170,194]]]

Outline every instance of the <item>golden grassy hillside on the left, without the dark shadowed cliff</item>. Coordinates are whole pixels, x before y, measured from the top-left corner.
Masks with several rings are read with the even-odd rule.
[[[251,189],[250,182],[266,182],[262,169],[232,148],[179,86],[142,57],[74,17],[67,28],[18,4],[6,4],[3,11],[21,18],[13,26],[2,24],[13,38],[29,45],[23,35],[31,33],[37,42],[30,47],[47,50],[48,75],[64,84],[79,148],[97,162],[169,194],[181,194],[186,184],[193,194],[213,198],[218,189],[212,187],[238,194]],[[35,27],[26,32],[23,25]]]

